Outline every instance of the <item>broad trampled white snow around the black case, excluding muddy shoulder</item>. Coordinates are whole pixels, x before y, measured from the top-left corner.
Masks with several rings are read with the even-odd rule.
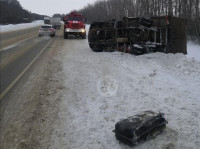
[[[146,110],[163,112],[167,128],[135,149],[199,148],[199,61],[183,54],[95,53],[77,39],[65,41],[61,55],[65,90],[50,148],[129,149],[116,140],[115,123]]]

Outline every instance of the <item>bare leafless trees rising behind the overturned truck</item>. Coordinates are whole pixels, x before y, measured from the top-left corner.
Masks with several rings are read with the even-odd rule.
[[[187,19],[188,37],[200,43],[200,0],[99,0],[80,13],[88,22],[120,20],[124,16],[152,17],[171,15]]]

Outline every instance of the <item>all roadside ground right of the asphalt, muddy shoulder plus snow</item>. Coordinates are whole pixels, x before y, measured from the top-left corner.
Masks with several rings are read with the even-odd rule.
[[[167,128],[135,149],[199,148],[200,61],[196,56],[200,52],[188,52],[195,59],[183,54],[95,53],[87,39],[64,40],[61,34],[55,38],[45,55],[53,60],[38,62],[29,80],[17,86],[3,106],[5,149],[9,144],[130,149],[116,140],[112,130],[120,119],[145,110],[165,113]],[[194,51],[193,46],[189,43],[188,51]]]

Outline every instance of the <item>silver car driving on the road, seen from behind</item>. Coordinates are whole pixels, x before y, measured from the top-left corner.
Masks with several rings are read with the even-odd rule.
[[[44,35],[51,36],[51,37],[56,35],[56,31],[52,25],[45,24],[45,25],[40,26],[39,37],[44,36]]]

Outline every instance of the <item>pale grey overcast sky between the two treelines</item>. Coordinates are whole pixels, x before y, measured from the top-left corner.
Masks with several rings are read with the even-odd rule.
[[[21,6],[41,15],[52,16],[55,13],[66,14],[71,10],[78,10],[97,0],[18,0]]]

